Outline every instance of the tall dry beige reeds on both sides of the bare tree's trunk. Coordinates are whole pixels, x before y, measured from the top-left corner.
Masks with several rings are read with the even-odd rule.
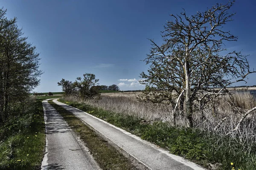
[[[108,93],[102,94],[102,99],[82,101],[75,96],[65,97],[71,102],[84,102],[94,107],[114,111],[124,115],[136,116],[147,122],[162,121],[173,126],[172,106],[148,102],[139,102],[136,95],[139,93]],[[219,142],[235,141],[243,146],[243,151],[249,153],[256,142],[256,114],[251,113],[242,122],[238,130],[233,131],[237,123],[248,109],[256,106],[256,99],[249,91],[236,92],[231,96],[218,99],[214,104],[204,106],[204,111],[196,109],[193,113],[193,121],[196,129],[209,135],[218,136]],[[213,109],[214,108],[214,109]],[[202,114],[204,119],[202,119]],[[182,111],[177,111],[176,127],[186,127],[186,116]],[[229,135],[227,135],[229,133]]]

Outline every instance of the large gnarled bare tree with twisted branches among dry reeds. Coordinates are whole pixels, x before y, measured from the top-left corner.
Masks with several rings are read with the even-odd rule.
[[[152,47],[145,59],[150,68],[148,74],[141,74],[143,84],[150,88],[139,96],[140,100],[168,102],[175,106],[174,110],[184,102],[187,125],[192,127],[195,101],[202,106],[254,72],[240,52],[220,55],[227,50],[224,41],[237,41],[223,28],[232,21],[234,13],[229,10],[233,4],[234,1],[217,3],[192,16],[185,10],[180,15],[170,15],[173,20],[164,26],[163,44],[150,40]]]

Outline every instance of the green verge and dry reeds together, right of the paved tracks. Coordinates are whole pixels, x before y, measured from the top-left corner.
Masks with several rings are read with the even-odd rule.
[[[201,113],[196,112],[193,118],[197,126],[194,128],[184,126],[186,118],[182,112],[177,113],[174,125],[170,114],[173,108],[163,104],[139,102],[136,99],[138,94],[140,93],[102,94],[102,99],[98,102],[83,101],[76,96],[66,96],[59,101],[86,111],[208,169],[255,169],[255,115],[248,117],[239,131],[227,134],[242,116],[236,111],[236,107],[229,105],[231,102],[245,110],[256,106],[256,100],[249,91],[233,94],[229,103],[219,101],[215,115],[212,114],[212,108],[205,110],[207,118],[203,122],[198,119]],[[225,117],[226,119],[219,121]]]

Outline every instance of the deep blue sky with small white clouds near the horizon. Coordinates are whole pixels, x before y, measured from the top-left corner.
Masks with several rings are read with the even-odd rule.
[[[227,0],[0,0],[7,17],[17,17],[40,53],[44,74],[38,92],[61,91],[57,82],[62,78],[75,81],[84,73],[95,74],[100,85],[143,89],[137,80],[148,68],[140,61],[151,47],[147,38],[161,42],[169,14],[184,8],[192,15],[217,2]],[[225,43],[226,48],[250,54],[250,66],[256,69],[255,8],[255,0],[238,0],[230,9],[236,15],[224,29],[239,37]],[[256,85],[255,77],[247,85]]]

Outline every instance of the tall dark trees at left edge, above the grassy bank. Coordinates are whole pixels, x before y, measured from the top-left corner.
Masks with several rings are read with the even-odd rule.
[[[17,19],[7,19],[0,9],[0,125],[12,116],[24,113],[25,100],[39,85],[39,54],[23,37]]]

